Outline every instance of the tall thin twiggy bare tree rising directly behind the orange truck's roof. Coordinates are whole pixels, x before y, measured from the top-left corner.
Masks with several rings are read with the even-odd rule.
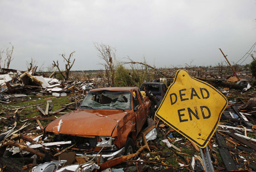
[[[114,86],[114,79],[115,79],[115,60],[116,60],[116,49],[105,45],[103,43],[96,43],[93,42],[96,50],[98,51],[98,57],[105,61],[104,64],[101,63],[105,67],[106,79],[108,80],[108,85]],[[110,79],[111,78],[111,79]]]

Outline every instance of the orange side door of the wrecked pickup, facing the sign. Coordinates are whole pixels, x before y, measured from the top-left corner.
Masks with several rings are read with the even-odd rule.
[[[144,106],[139,98],[139,93],[137,90],[133,91],[132,100],[133,100],[134,114],[135,114],[135,118],[136,118],[136,129],[137,129],[136,135],[138,135],[138,133],[140,132],[140,130],[143,127],[143,124],[144,124],[146,118],[144,117],[144,114],[145,114]]]

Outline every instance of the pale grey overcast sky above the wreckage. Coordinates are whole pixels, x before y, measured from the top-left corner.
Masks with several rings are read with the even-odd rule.
[[[232,63],[256,42],[255,18],[256,0],[1,0],[0,48],[14,45],[18,70],[31,57],[47,70],[72,51],[72,70],[101,69],[93,42],[115,47],[118,61],[217,65],[218,48]]]

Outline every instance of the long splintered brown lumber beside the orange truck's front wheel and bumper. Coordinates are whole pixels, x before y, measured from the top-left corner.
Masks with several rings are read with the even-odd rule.
[[[102,171],[102,170],[108,169],[108,168],[110,168],[112,166],[115,166],[117,164],[120,164],[122,162],[125,162],[126,160],[131,159],[131,158],[139,155],[140,152],[143,149],[148,149],[150,151],[150,149],[148,147],[148,143],[147,143],[146,137],[145,137],[145,134],[143,133],[142,136],[143,136],[144,146],[140,147],[140,149],[137,150],[136,153],[125,155],[125,156],[121,156],[119,158],[114,158],[112,160],[106,161],[105,163],[99,165],[99,170]]]

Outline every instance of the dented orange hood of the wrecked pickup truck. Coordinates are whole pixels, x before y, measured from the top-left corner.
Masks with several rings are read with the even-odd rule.
[[[49,123],[45,131],[78,136],[111,136],[119,120],[129,111],[75,110]]]

